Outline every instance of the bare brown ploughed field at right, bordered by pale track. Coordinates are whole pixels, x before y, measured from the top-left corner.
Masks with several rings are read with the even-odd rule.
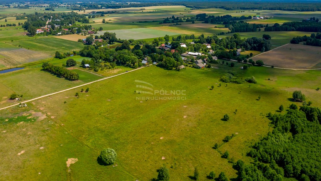
[[[253,57],[266,65],[283,68],[321,68],[321,47],[301,44],[287,44]]]

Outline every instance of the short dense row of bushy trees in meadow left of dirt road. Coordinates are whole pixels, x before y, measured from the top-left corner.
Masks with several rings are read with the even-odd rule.
[[[44,62],[42,64],[42,68],[45,71],[49,71],[51,73],[58,75],[59,77],[64,77],[64,78],[71,80],[71,81],[76,81],[79,79],[78,73],[76,73],[74,71],[70,71],[70,70],[66,69],[65,67],[54,65],[49,62]]]

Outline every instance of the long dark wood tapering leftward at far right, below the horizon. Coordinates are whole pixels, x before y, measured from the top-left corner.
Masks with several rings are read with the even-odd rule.
[[[268,26],[265,28],[265,31],[300,31],[300,32],[320,32],[321,23],[319,19],[315,17],[308,20],[302,20],[302,22],[285,22],[282,25],[275,23],[273,26]]]

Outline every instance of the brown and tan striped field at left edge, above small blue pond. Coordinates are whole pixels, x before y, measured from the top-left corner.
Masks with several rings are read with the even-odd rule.
[[[21,65],[23,63],[34,62],[51,57],[48,54],[24,48],[0,51],[0,55],[4,56],[3,58],[0,58],[0,64],[6,67]]]

